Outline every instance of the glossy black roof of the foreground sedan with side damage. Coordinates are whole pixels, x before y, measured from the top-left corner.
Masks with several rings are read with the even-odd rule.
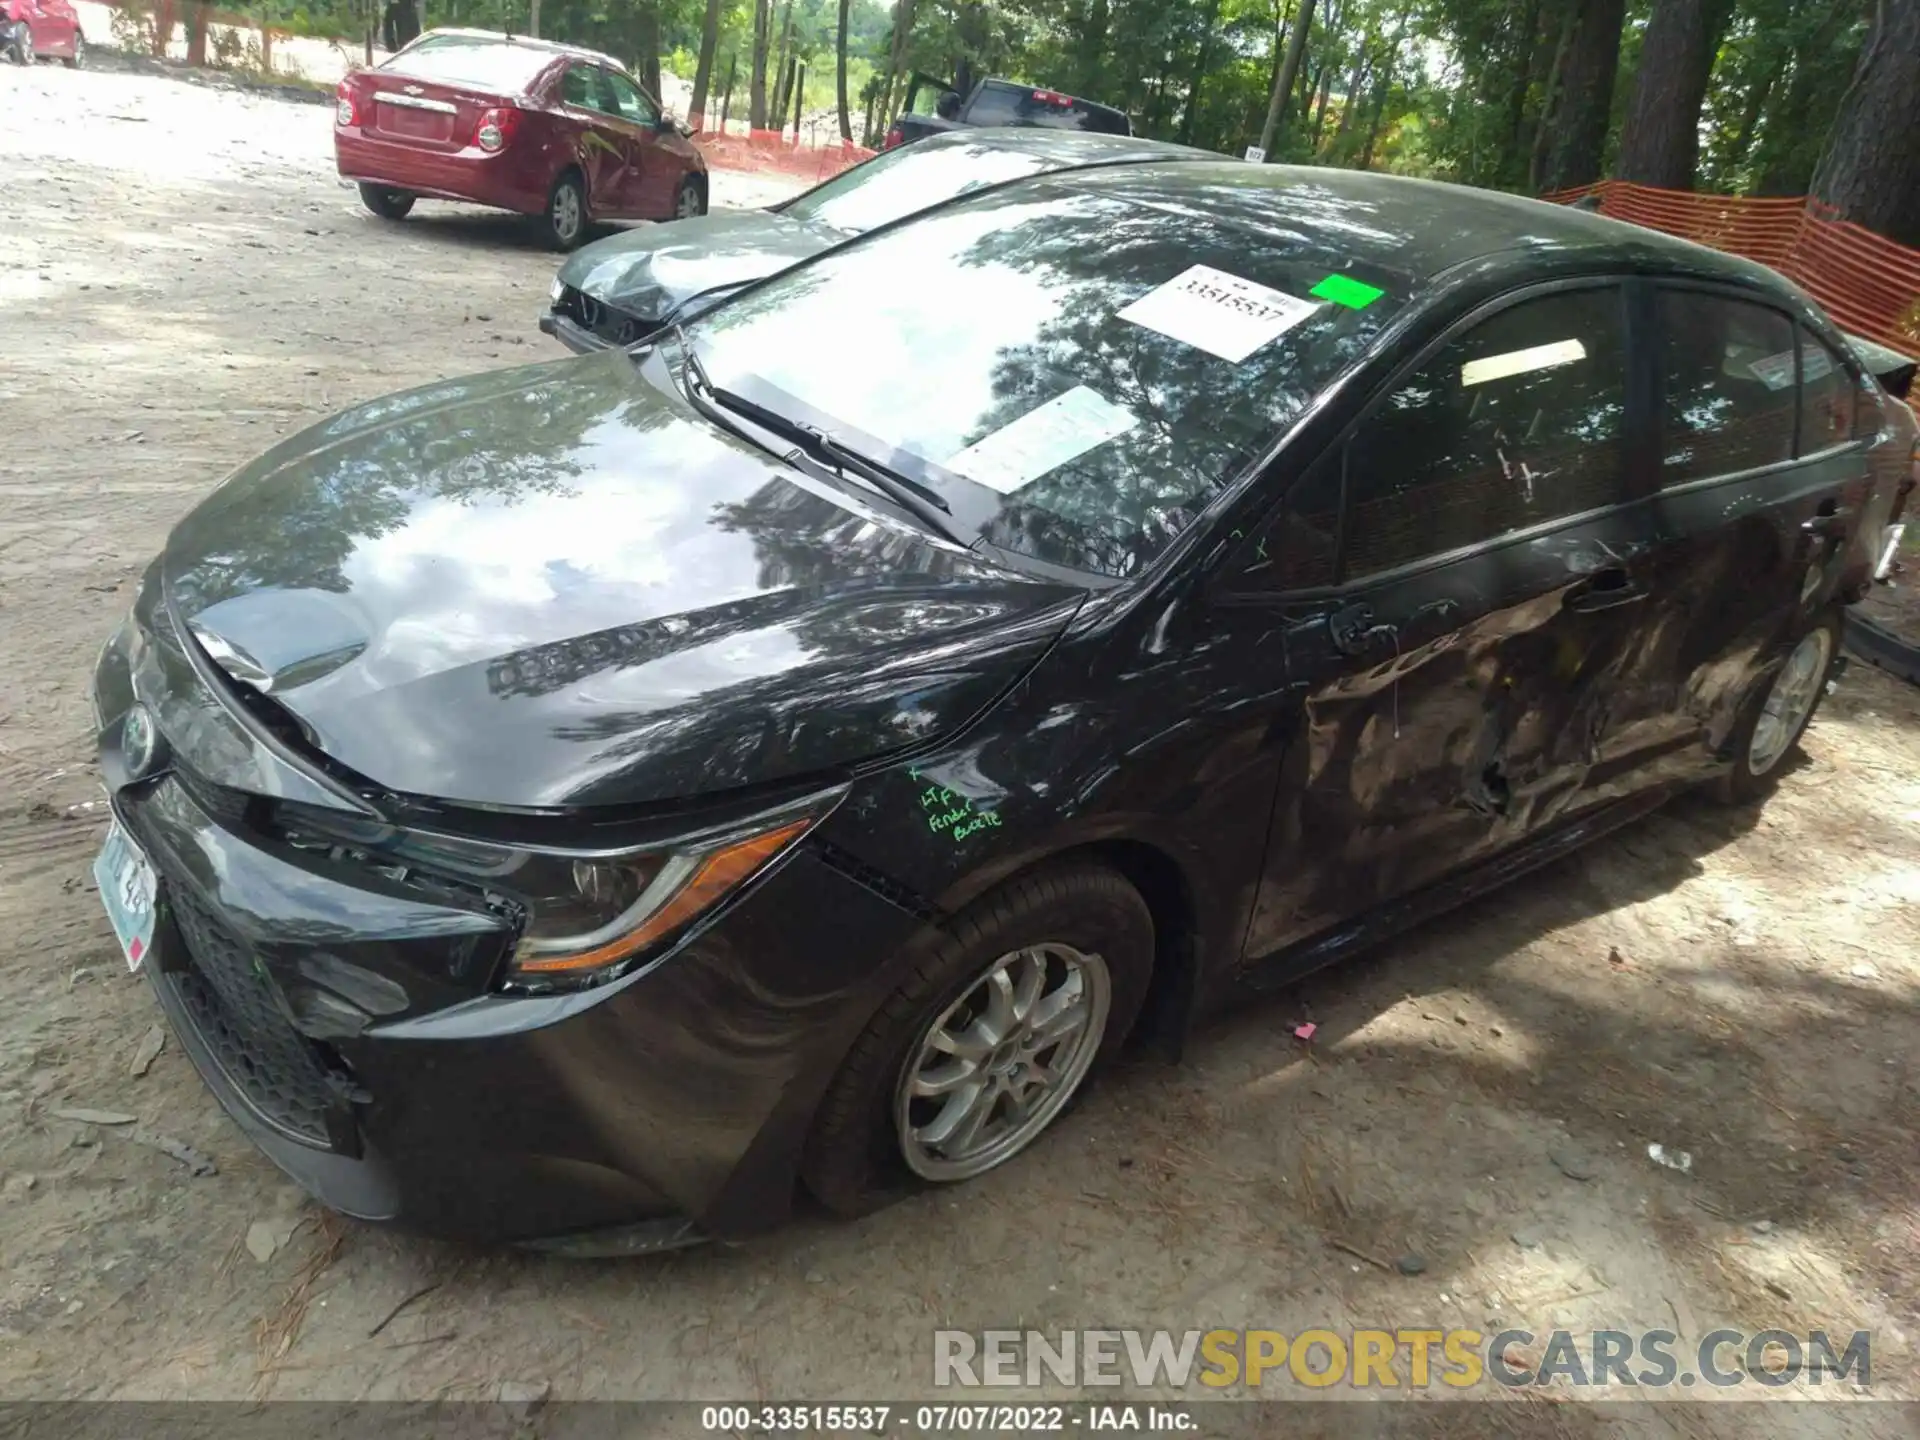
[[[1217,159],[1035,177],[1021,184],[1064,184],[1267,234],[1296,232],[1413,278],[1486,257],[1536,269],[1530,261],[1580,252],[1596,265],[1670,267],[1797,294],[1764,265],[1657,230],[1571,205],[1404,175]]]

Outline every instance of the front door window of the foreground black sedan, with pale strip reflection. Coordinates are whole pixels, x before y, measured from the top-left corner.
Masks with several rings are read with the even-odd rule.
[[[1619,286],[1523,300],[1375,403],[1348,440],[1342,580],[1620,499],[1622,307]]]

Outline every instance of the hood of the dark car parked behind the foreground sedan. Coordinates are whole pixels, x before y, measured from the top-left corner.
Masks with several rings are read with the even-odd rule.
[[[701,215],[595,240],[566,257],[561,284],[659,321],[703,290],[758,280],[845,238],[831,225],[766,209]]]

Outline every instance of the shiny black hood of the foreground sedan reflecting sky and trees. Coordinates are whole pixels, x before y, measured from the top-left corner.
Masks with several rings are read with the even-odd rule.
[[[161,576],[171,620],[313,749],[507,806],[684,799],[933,741],[1083,599],[712,426],[657,351],[338,415],[188,515]]]

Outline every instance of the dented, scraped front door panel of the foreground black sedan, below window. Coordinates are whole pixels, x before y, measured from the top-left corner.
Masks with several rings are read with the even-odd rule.
[[[1588,778],[1645,685],[1638,607],[1580,597],[1638,553],[1632,530],[1607,515],[1292,607],[1298,701],[1250,956],[1605,799]],[[1359,655],[1329,626],[1354,607],[1371,611]]]

